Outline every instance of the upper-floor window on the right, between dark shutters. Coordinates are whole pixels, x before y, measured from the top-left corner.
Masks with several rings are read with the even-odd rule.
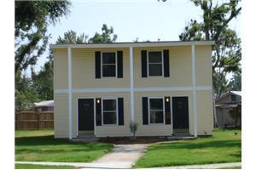
[[[148,76],[159,77],[163,75],[163,59],[161,51],[148,52]]]

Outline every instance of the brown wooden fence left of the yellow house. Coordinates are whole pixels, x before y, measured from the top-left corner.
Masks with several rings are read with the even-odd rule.
[[[53,129],[53,111],[21,111],[15,114],[15,129]]]

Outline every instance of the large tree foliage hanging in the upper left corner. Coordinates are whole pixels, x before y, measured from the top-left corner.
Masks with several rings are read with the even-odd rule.
[[[69,13],[63,1],[15,1],[15,73],[35,65],[49,40],[47,26]]]

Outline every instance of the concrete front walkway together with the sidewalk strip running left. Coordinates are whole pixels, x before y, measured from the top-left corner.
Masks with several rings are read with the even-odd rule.
[[[82,162],[46,162],[46,161],[15,161],[15,163],[37,165],[67,165],[74,167],[90,168],[131,168],[132,165],[143,156],[148,144],[116,144],[113,150],[90,163]]]

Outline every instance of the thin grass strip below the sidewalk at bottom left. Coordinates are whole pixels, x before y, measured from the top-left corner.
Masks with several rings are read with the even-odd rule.
[[[15,169],[78,169],[73,166],[55,166],[55,165],[33,165],[33,164],[15,164]]]

